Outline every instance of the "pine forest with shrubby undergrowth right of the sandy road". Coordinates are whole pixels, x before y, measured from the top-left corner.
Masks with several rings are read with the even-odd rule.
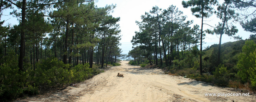
[[[176,6],[162,9],[153,6],[136,21],[128,57],[129,64],[164,69],[169,75],[180,75],[218,86],[256,89],[256,18],[255,0],[189,0],[182,6],[202,20],[192,25]],[[252,9],[252,12],[248,10]],[[206,24],[208,17],[216,16],[218,24]],[[233,23],[240,23],[253,34],[241,40]],[[205,25],[212,29],[203,30]],[[202,49],[206,34],[218,36],[219,44]],[[222,44],[222,35],[239,40]]]

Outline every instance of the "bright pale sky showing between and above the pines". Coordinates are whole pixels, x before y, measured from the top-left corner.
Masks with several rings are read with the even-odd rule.
[[[196,18],[194,15],[192,15],[190,8],[183,8],[181,2],[182,0],[97,0],[95,5],[97,5],[97,7],[105,7],[106,5],[116,4],[116,8],[113,10],[112,13],[110,13],[110,15],[112,15],[113,17],[120,17],[120,21],[118,23],[120,24],[120,34],[122,35],[120,43],[122,45],[119,46],[119,48],[122,49],[122,54],[128,54],[129,50],[132,50],[132,36],[135,35],[135,31],[139,31],[139,27],[137,26],[135,21],[142,21],[141,15],[144,15],[145,12],[149,12],[149,10],[152,10],[153,6],[167,9],[169,6],[174,5],[183,12],[183,15],[187,15],[187,20],[194,21],[193,24],[191,24],[191,27],[195,24],[198,24],[201,28],[201,18]],[[5,10],[3,12],[1,21],[6,20],[4,26],[8,23],[11,25],[18,23],[17,18],[9,15],[9,12],[11,11],[12,10]],[[215,26],[215,24],[217,24],[219,21],[220,20],[216,17],[216,15],[212,15],[211,17],[204,19],[204,23],[210,24],[212,26]],[[240,35],[242,39],[249,38],[249,35],[252,34],[250,32],[244,31],[239,23],[233,22],[233,24],[238,29],[237,35]],[[211,28],[212,27],[208,25],[203,26],[203,30]],[[212,44],[218,44],[219,35],[216,36],[206,34],[203,41],[205,42],[203,43],[203,49],[207,46],[211,46]],[[230,41],[235,40],[225,34],[222,36],[222,43]]]

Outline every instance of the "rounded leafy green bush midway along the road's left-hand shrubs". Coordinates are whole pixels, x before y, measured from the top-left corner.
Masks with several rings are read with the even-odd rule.
[[[57,58],[42,60],[36,66],[34,82],[39,87],[65,87],[74,77],[73,72],[68,70],[69,64],[64,64]]]

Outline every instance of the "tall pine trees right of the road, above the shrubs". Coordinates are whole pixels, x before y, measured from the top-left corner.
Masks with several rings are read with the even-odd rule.
[[[247,14],[239,14],[235,11],[248,11],[255,8],[255,0],[224,0],[219,3],[218,0],[189,0],[182,1],[184,8],[191,7],[192,14],[201,18],[201,25],[191,25],[193,20],[186,20],[187,16],[178,10],[176,6],[162,10],[154,6],[149,12],[141,16],[142,22],[136,21],[139,31],[135,31],[132,44],[133,49],[129,52],[129,56],[135,59],[146,58],[149,63],[160,66],[172,66],[173,60],[184,59],[184,52],[193,52],[200,46],[200,73],[202,75],[202,43],[206,33],[220,35],[218,64],[221,64],[221,39],[223,34],[227,34],[234,39],[242,39],[236,36],[238,29],[232,24],[233,21],[240,22],[246,31],[255,32],[255,12],[251,11]],[[217,7],[217,10],[214,9]],[[204,19],[215,14],[220,18],[221,22],[213,26],[204,23]],[[203,25],[209,25],[213,29],[203,31]],[[192,26],[192,27],[191,27]],[[200,27],[201,26],[201,27]],[[139,49],[139,53],[138,53]]]

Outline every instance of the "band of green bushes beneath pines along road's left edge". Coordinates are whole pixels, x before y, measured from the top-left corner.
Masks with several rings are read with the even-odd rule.
[[[16,99],[26,94],[36,95],[49,88],[67,87],[70,83],[81,82],[103,72],[97,68],[89,68],[88,63],[72,68],[57,58],[42,60],[36,64],[35,71],[19,71],[18,58],[14,52],[9,52],[6,59],[6,63],[0,66],[0,97],[4,97],[0,101]]]

